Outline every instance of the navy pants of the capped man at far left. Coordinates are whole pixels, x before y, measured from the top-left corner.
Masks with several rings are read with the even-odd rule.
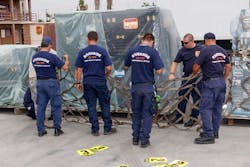
[[[61,129],[62,98],[59,82],[56,79],[37,80],[37,130],[39,133],[45,131],[45,111],[49,101],[54,128]]]

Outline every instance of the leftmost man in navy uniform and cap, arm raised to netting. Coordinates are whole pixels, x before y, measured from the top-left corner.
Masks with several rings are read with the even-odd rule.
[[[38,136],[44,136],[47,131],[44,127],[45,110],[48,102],[51,104],[53,114],[54,135],[63,134],[62,122],[62,99],[59,81],[56,76],[56,68],[68,70],[68,55],[64,55],[65,62],[56,55],[49,53],[52,48],[52,40],[45,36],[42,39],[41,49],[32,57],[32,64],[37,77],[37,130]]]

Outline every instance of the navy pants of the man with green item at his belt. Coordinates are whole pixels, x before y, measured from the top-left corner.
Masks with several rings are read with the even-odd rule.
[[[153,96],[153,89],[132,89],[132,135],[133,138],[140,139],[141,143],[147,142],[150,138],[153,121]]]

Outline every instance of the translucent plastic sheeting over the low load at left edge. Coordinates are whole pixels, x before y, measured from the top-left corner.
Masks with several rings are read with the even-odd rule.
[[[23,106],[28,68],[35,48],[30,45],[0,46],[0,106]]]

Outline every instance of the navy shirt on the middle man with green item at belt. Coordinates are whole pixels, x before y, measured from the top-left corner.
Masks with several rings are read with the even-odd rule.
[[[154,83],[154,69],[164,67],[158,51],[143,45],[136,46],[128,52],[124,65],[132,66],[132,84]]]

